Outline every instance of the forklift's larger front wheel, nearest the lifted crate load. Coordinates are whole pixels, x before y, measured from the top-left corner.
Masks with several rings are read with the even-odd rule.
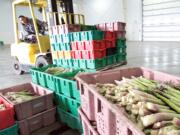
[[[44,66],[47,66],[49,64],[52,64],[51,62],[51,59],[46,57],[46,56],[39,56],[37,59],[36,59],[36,67],[44,67]]]

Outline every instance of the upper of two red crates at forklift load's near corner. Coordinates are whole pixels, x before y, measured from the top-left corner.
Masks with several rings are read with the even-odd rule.
[[[105,40],[101,41],[84,41],[84,49],[85,50],[100,50],[106,49]]]

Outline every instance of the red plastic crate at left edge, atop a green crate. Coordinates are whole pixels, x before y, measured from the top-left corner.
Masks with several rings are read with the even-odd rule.
[[[3,97],[0,96],[0,104],[4,104],[6,109],[0,111],[0,130],[11,127],[15,124],[14,108],[13,105],[8,103]]]

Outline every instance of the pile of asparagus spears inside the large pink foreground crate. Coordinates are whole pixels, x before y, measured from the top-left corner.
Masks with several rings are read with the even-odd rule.
[[[96,84],[110,102],[124,107],[128,118],[149,135],[180,135],[180,87],[144,77]]]

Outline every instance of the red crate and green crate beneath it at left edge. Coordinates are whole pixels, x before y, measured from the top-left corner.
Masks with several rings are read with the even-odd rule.
[[[0,96],[0,135],[18,135],[14,107]]]

